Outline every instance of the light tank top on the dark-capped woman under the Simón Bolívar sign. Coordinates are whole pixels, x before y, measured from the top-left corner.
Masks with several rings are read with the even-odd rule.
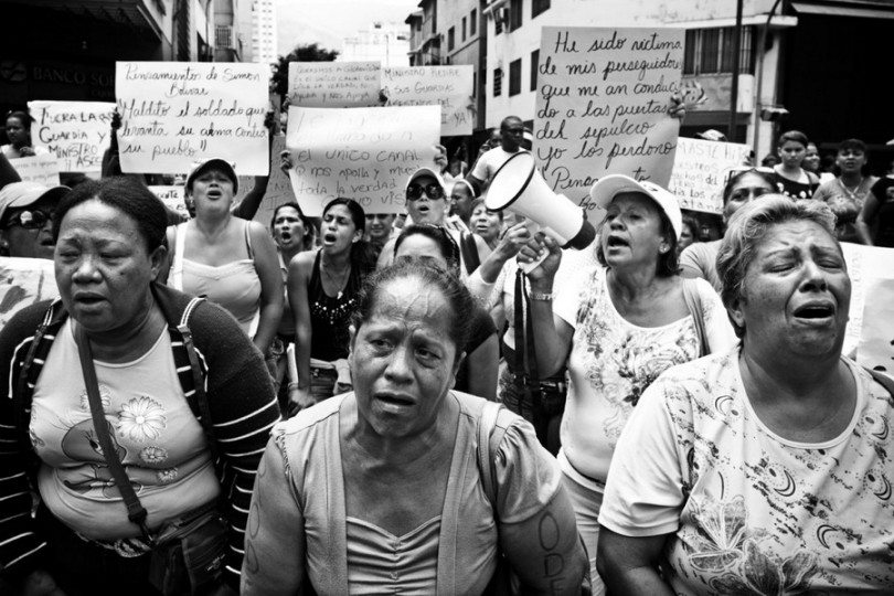
[[[216,267],[184,257],[189,222],[179,224],[168,285],[193,296],[204,296],[222,306],[236,318],[243,331],[253,338],[260,317],[260,278],[255,268],[249,222],[243,223],[248,258]]]

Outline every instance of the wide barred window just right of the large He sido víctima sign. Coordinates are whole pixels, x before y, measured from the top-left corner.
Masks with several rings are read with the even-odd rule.
[[[683,74],[733,72],[735,28],[690,29],[687,31]],[[742,28],[738,72],[754,74],[754,28]]]

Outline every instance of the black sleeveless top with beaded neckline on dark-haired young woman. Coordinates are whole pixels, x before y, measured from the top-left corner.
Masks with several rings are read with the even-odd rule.
[[[356,295],[363,279],[359,267],[352,265],[344,289],[337,296],[327,295],[320,277],[321,255],[322,252],[317,251],[310,284],[307,288],[310,306],[310,337],[312,338],[310,358],[334,362],[348,358],[350,343],[348,327],[351,323],[351,315],[356,308]]]

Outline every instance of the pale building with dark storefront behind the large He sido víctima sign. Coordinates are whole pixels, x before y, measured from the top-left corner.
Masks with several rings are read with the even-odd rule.
[[[674,26],[685,30],[688,110],[681,134],[727,131],[736,2],[489,0],[483,13],[487,127],[510,114],[533,120],[543,26]],[[892,17],[894,0],[743,0],[731,140],[753,145],[763,156],[775,150],[781,130],[800,128],[829,147],[860,137],[884,151],[881,138],[894,129],[879,126],[880,118],[891,124],[883,106],[888,93],[868,58],[890,55],[885,40],[894,31]],[[854,93],[853,85],[861,91]],[[848,118],[829,118],[828,108],[842,105]]]

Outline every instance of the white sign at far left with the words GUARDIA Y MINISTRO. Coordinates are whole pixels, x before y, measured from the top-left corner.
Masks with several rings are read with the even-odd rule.
[[[58,171],[98,174],[108,149],[115,104],[29,102],[31,140],[58,158]]]

